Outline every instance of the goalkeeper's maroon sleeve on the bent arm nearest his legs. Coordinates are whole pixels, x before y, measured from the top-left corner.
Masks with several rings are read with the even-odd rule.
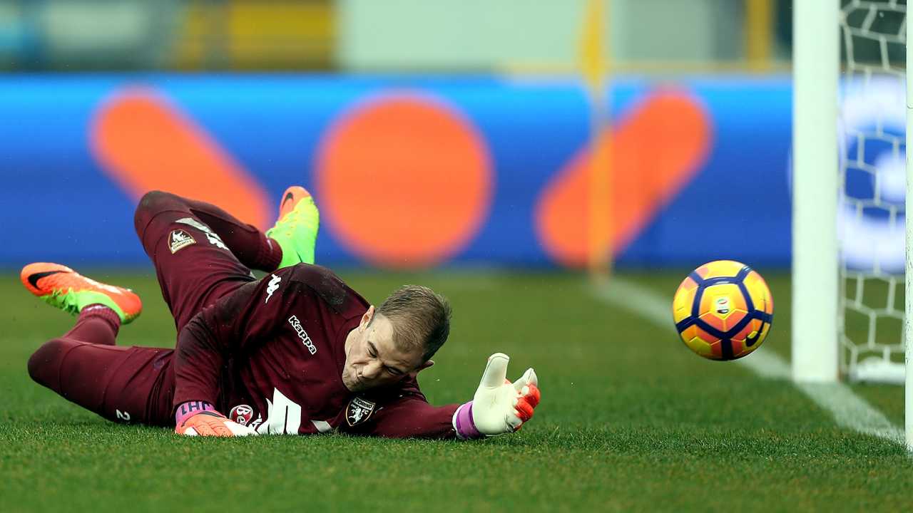
[[[201,310],[178,335],[173,407],[187,401],[217,404],[223,366],[252,349],[288,317],[301,286],[286,267],[237,288]]]

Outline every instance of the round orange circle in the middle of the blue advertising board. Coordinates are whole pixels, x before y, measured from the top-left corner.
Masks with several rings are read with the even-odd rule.
[[[321,220],[373,265],[427,267],[452,257],[488,216],[488,146],[440,99],[399,93],[359,103],[320,143]]]

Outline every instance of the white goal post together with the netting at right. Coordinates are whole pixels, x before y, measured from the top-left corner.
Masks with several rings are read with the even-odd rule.
[[[913,450],[906,11],[899,0],[793,3],[792,376],[904,385]]]

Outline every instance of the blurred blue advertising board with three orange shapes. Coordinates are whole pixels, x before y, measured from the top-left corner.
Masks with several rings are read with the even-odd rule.
[[[144,192],[266,228],[293,183],[328,265],[577,267],[600,230],[619,265],[789,264],[788,78],[607,96],[597,138],[565,79],[7,76],[0,266],[145,265]]]

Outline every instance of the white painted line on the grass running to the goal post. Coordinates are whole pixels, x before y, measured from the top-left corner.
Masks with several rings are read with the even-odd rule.
[[[615,307],[626,309],[647,319],[656,326],[674,333],[672,323],[672,298],[664,298],[652,290],[640,287],[619,277],[601,286],[594,286],[593,294]],[[790,365],[772,351],[760,348],[749,356],[737,360],[765,379],[790,380]],[[844,383],[794,383],[802,393],[826,412],[834,415],[841,427],[859,433],[871,434],[897,444],[904,444],[902,429],[887,420],[866,400],[859,397]]]

